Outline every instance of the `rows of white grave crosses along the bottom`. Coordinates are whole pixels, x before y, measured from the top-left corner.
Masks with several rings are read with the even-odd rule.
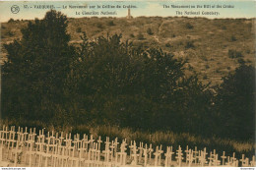
[[[99,137],[94,139],[93,135],[84,135],[83,139],[79,134],[71,139],[71,134],[48,132],[44,135],[44,130],[39,130],[35,134],[35,128],[3,127],[0,131],[0,162],[13,162],[10,166],[52,166],[52,167],[83,167],[83,166],[255,166],[255,156],[252,159],[244,157],[235,158],[226,156],[225,152],[219,160],[216,150],[209,154],[206,147],[203,150],[194,149],[188,146],[184,151],[180,145],[173,151],[172,146],[167,146],[165,153],[162,146],[157,146],[154,150],[152,144],[135,141],[130,144],[126,140],[118,142],[109,141],[107,137],[104,143]],[[129,154],[127,148],[129,147]],[[164,157],[162,157],[164,155]],[[1,166],[1,164],[0,164]]]

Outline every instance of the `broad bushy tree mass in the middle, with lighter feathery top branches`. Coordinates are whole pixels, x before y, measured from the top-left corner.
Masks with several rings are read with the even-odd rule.
[[[185,77],[183,61],[160,49],[121,42],[117,34],[82,39],[73,73],[79,79],[70,84],[77,86],[72,98],[86,109],[81,121],[191,133],[207,124],[212,95],[196,77]]]

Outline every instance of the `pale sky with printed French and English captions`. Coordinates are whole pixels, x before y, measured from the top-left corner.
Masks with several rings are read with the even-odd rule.
[[[17,13],[17,6],[19,7],[19,12],[17,14],[13,14],[11,12],[11,8],[16,5],[16,8],[13,8],[14,13]],[[25,5],[28,8],[25,8]],[[1,1],[0,2],[0,22],[7,22],[10,18],[15,20],[24,19],[24,20],[32,20],[34,18],[42,19],[45,15],[45,12],[48,9],[38,9],[38,5],[52,5],[55,10],[61,11],[63,14],[72,18],[81,18],[81,17],[125,17],[127,16],[127,8],[124,8],[128,5],[136,6],[136,8],[131,8],[131,14],[133,17],[139,16],[177,16],[176,11],[182,12],[182,15],[178,16],[186,16],[186,17],[205,17],[205,18],[255,18],[256,17],[256,3],[255,1]],[[69,5],[75,6],[87,6],[85,9],[71,9]],[[101,8],[98,9],[90,9],[90,6],[99,5]],[[115,8],[102,8],[102,5],[111,5]],[[119,5],[121,8],[116,8]],[[167,5],[170,8],[163,8],[163,5]],[[194,5],[196,8],[171,8],[171,5],[175,6],[192,6]],[[211,8],[197,8],[197,6],[210,5]],[[222,8],[217,8],[217,5],[220,5]],[[232,6],[233,8],[224,8],[226,6]],[[63,6],[67,6],[67,9],[63,9]],[[214,7],[214,8],[212,8]],[[99,15],[82,15],[82,12],[98,12]],[[109,15],[104,16],[100,15],[102,12],[116,12],[117,15]],[[200,15],[185,15],[186,12],[198,12],[200,11]],[[81,15],[76,15],[76,12],[80,12]],[[202,15],[205,12],[214,12],[215,15]]]

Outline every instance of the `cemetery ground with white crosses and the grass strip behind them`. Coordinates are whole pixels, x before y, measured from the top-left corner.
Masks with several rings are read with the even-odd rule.
[[[209,139],[206,139],[206,138],[203,139],[202,137],[198,137],[198,136],[194,136],[186,133],[174,134],[170,131],[169,132],[157,131],[154,133],[132,131],[129,128],[121,129],[119,127],[110,126],[110,125],[108,126],[81,125],[78,127],[53,127],[53,126],[47,126],[46,124],[43,124],[39,121],[30,122],[30,123],[25,121],[24,125],[30,125],[30,126],[29,127],[22,126],[23,128],[19,127],[19,130],[17,127],[15,128],[15,127],[9,126],[8,130],[11,133],[7,138],[7,135],[6,136],[4,135],[4,132],[5,130],[7,130],[7,127],[2,126],[3,124],[14,125],[14,122],[1,121],[0,145],[2,149],[2,160],[8,163],[8,166],[20,166],[20,167],[26,167],[26,166],[30,166],[30,167],[34,167],[34,166],[93,166],[93,167],[95,166],[99,166],[99,167],[101,166],[133,166],[133,167],[135,166],[139,166],[139,167],[141,166],[174,166],[174,167],[176,166],[183,166],[183,167],[184,166],[185,167],[188,167],[188,166],[191,166],[191,167],[246,166],[247,167],[247,166],[254,166],[254,163],[255,163],[255,160],[253,161],[253,159],[255,159],[254,157],[255,143],[254,142],[236,142],[234,140],[220,139],[215,137],[209,138]],[[36,127],[36,128],[32,128],[32,127]],[[14,136],[11,136],[12,131],[14,132]],[[7,140],[3,140],[4,139],[3,137],[6,137]],[[42,146],[41,149],[45,148],[45,150],[43,150],[42,153],[40,154],[40,151],[39,151],[40,146],[38,143],[42,142],[42,139],[43,139],[43,142],[45,142],[45,146],[44,147]],[[103,139],[106,139],[106,140],[103,140]],[[60,140],[62,141],[61,143],[63,143],[63,145],[69,145],[66,151],[63,150],[63,153],[59,148],[59,146],[61,145],[59,144]],[[69,140],[69,142],[67,142],[67,140]],[[18,147],[16,147],[15,141],[20,142]],[[85,143],[83,145],[82,142],[83,143],[85,142],[88,145],[86,146]],[[96,145],[94,145],[93,142]],[[100,146],[100,142],[102,142],[101,146]],[[109,142],[109,144],[105,145],[107,142]],[[113,154],[111,154],[111,146],[110,146],[111,142],[112,142],[112,145],[116,143],[115,145],[116,147],[112,147],[112,153],[115,152]],[[79,146],[79,143],[81,144],[80,146]],[[81,153],[81,150],[79,149],[80,147],[83,147],[83,148],[87,147],[87,149],[84,148],[85,150]],[[99,151],[99,153],[96,153],[96,151],[94,152],[93,147],[98,148],[97,152],[98,150],[101,150],[101,151]],[[106,152],[105,152],[106,147],[109,147],[109,155],[108,155],[109,157],[107,159],[106,159]],[[10,149],[7,149],[7,148],[10,148]],[[114,148],[116,150],[113,150]],[[19,151],[17,151],[16,149]],[[118,156],[119,154],[122,155],[121,153],[122,149],[125,150],[124,151],[125,157]],[[136,158],[132,154],[133,149],[135,149],[134,152],[136,152],[136,156],[135,156]],[[147,149],[149,150],[152,149],[152,151],[147,152],[148,157],[143,151],[145,149],[146,151]],[[60,158],[58,158],[56,154],[59,154]],[[156,154],[157,154],[157,158],[156,158]],[[179,157],[179,154],[181,157]],[[84,157],[83,159],[81,158],[81,155],[83,155],[82,156]],[[194,155],[194,158],[192,157],[190,160],[189,155]],[[205,156],[204,161],[201,160],[202,157],[200,156],[202,155],[203,157]],[[67,159],[67,157],[69,157],[69,159]],[[135,163],[135,161],[137,163]]]

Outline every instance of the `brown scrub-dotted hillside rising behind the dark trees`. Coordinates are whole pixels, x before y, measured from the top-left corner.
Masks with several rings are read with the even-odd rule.
[[[1,43],[21,37],[28,21],[3,23]],[[122,33],[122,40],[133,44],[162,48],[187,61],[186,74],[199,74],[203,83],[218,85],[222,77],[241,62],[254,65],[253,20],[205,18],[81,18],[69,19],[71,43],[81,42],[86,31],[91,40],[99,35]],[[3,51],[4,52],[4,51]],[[5,58],[5,54],[3,55]]]

